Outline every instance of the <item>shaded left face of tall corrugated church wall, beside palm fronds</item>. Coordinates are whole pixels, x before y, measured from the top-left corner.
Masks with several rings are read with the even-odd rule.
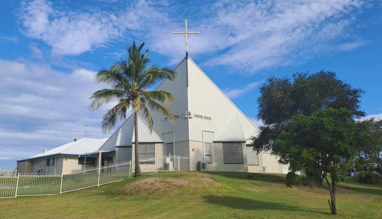
[[[175,103],[165,105],[174,115],[178,115],[177,121],[171,123],[165,120],[165,116],[160,112],[151,110],[154,119],[154,128],[158,133],[174,131],[175,141],[186,141],[189,138],[188,119],[185,118],[185,112],[188,111],[187,99],[187,59],[174,70],[177,78],[174,81],[165,80],[156,90],[170,92],[175,97]]]

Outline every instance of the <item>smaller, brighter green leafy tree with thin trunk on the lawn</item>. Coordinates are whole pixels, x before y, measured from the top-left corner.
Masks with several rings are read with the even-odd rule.
[[[272,148],[293,172],[306,172],[311,163],[318,164],[319,176],[330,192],[331,213],[337,215],[337,184],[346,178],[345,165],[359,153],[359,145],[367,136],[364,131],[350,110],[318,109],[311,115],[292,116]]]

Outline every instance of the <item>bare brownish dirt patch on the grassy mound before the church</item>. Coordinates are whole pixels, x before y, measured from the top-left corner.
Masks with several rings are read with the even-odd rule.
[[[175,178],[150,177],[126,184],[118,188],[117,193],[125,196],[147,196],[170,191],[206,188],[217,183],[216,180],[208,175],[200,175],[195,178],[179,176]]]

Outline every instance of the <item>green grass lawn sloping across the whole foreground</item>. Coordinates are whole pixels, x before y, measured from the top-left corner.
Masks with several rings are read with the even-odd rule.
[[[162,172],[55,196],[0,199],[10,218],[382,218],[382,185],[341,184],[337,217],[329,192],[285,186],[284,175]]]

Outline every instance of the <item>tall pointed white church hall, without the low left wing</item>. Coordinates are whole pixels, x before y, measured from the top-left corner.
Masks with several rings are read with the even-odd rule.
[[[186,56],[175,68],[177,78],[165,80],[156,90],[170,92],[176,101],[168,107],[176,117],[170,122],[151,111],[154,127],[150,132],[145,117],[138,116],[139,157],[190,157],[190,170],[286,173],[270,153],[252,150],[251,136],[257,127]],[[116,162],[134,162],[134,115],[110,136],[97,152],[115,151]],[[203,164],[203,165],[201,165]]]

